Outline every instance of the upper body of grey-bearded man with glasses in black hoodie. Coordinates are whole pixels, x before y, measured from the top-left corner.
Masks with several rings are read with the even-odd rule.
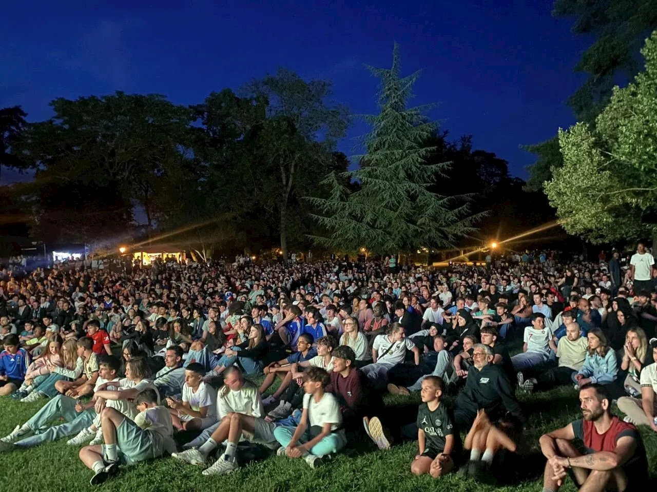
[[[489,419],[497,420],[506,410],[525,422],[513,386],[500,365],[493,364],[493,349],[484,344],[473,348],[474,365],[468,369],[465,388],[456,399],[454,419],[459,430],[468,430],[478,409],[486,410]]]

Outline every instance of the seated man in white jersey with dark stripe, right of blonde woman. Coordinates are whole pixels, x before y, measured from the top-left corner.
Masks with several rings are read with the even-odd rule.
[[[385,388],[388,384],[388,371],[404,362],[407,350],[413,352],[415,365],[420,365],[420,350],[411,340],[405,338],[404,327],[392,323],[387,335],[378,335],[372,346],[373,363],[361,369],[371,380],[374,388]]]

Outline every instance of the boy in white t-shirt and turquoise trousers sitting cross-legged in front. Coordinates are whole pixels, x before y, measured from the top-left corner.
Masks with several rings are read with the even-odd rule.
[[[311,468],[316,468],[323,456],[336,453],[346,445],[346,436],[340,430],[340,404],[324,390],[329,382],[327,371],[320,367],[309,367],[304,372],[306,394],[301,420],[296,428],[274,429],[274,437],[282,446],[277,455],[303,458]]]

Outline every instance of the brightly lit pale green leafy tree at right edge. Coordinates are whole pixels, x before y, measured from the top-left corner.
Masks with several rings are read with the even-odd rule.
[[[559,131],[564,166],[545,184],[560,222],[594,243],[657,236],[657,31],[645,72],[614,87],[595,127]]]

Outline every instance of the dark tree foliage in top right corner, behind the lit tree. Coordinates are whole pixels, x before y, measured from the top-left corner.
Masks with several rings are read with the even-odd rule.
[[[657,3],[655,0],[556,0],[553,15],[574,18],[573,32],[595,39],[575,67],[576,72],[586,73],[587,79],[568,98],[577,121],[595,123],[619,77],[629,81],[641,70],[637,55],[645,37],[657,29]],[[526,146],[528,152],[538,156],[536,163],[528,168],[528,188],[541,189],[543,182],[551,178],[551,169],[563,165],[558,148],[556,136]]]

